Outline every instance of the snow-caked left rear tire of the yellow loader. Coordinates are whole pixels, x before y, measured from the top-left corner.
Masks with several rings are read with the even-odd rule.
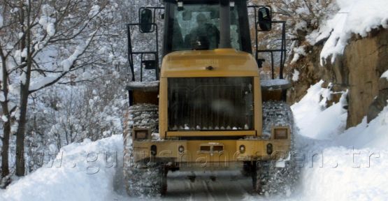
[[[158,132],[158,106],[137,104],[129,107],[124,119],[124,179],[127,193],[130,196],[155,197],[164,195],[167,190],[167,169],[155,161],[134,161],[132,147],[132,129],[151,128],[152,133]]]

